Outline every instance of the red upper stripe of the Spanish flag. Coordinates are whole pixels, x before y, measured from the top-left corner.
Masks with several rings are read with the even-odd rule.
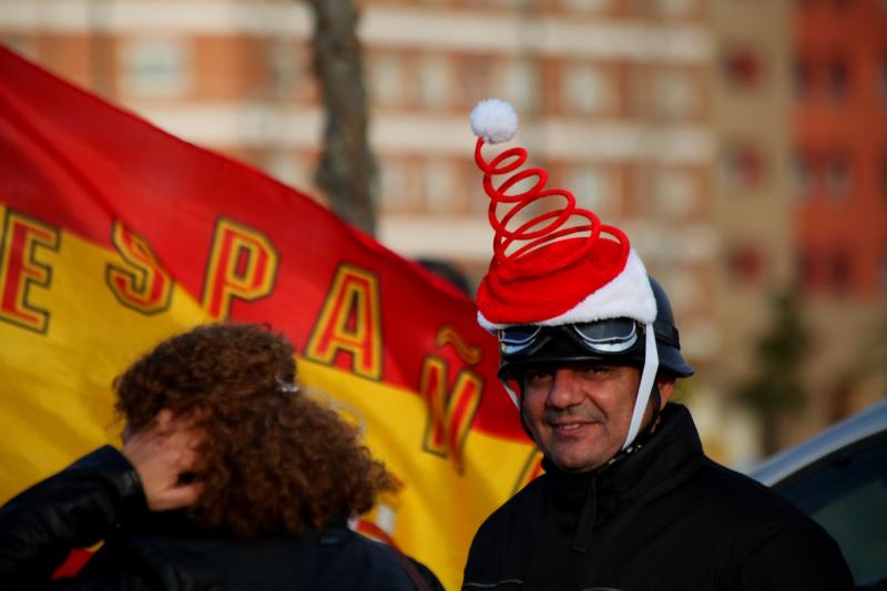
[[[380,286],[380,379],[418,396],[426,356],[450,326],[480,351],[486,377],[472,429],[524,441],[496,379],[496,340],[477,310],[417,264],[388,251],[297,191],[179,140],[0,47],[0,203],[113,249],[114,222],[151,244],[171,277],[201,302],[214,226],[224,216],[261,232],[279,253],[273,292],[234,300],[230,317],[272,322],[305,349],[341,264]],[[207,223],[207,220],[210,223]],[[418,295],[417,295],[418,294]],[[347,368],[339,355],[333,363]],[[453,374],[466,363],[453,357]]]

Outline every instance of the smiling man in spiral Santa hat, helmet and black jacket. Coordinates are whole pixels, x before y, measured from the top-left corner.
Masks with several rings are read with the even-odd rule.
[[[546,171],[519,171],[524,150],[483,157],[513,135],[509,105],[481,103],[471,123],[496,231],[478,316],[546,473],[480,527],[462,589],[853,589],[834,540],[706,458],[669,401],[693,369],[628,236],[546,188]]]

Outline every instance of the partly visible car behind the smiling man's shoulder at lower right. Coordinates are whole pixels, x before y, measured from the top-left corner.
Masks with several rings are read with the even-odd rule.
[[[857,589],[887,589],[887,400],[750,472],[818,521]]]

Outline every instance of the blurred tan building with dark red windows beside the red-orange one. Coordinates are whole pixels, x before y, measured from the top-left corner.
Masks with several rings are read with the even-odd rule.
[[[732,395],[757,369],[755,344],[771,325],[774,295],[788,287],[792,275],[786,118],[792,3],[714,0],[708,6],[716,39],[711,90],[717,137],[710,195],[717,255],[708,288],[717,353],[703,369],[713,394],[721,396],[699,398],[703,409],[711,407],[704,425],[714,431],[708,439],[734,430],[727,432],[734,447],[730,456],[747,465],[761,454],[761,436],[751,427],[756,417],[742,412]]]

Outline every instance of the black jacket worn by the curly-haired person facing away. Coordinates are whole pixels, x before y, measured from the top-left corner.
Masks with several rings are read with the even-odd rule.
[[[105,543],[74,579],[50,581],[72,547]],[[409,571],[409,572],[408,572]],[[179,511],[147,511],[135,470],[112,447],[0,508],[0,585],[40,590],[415,590],[442,587],[420,563],[344,524],[237,541]]]

